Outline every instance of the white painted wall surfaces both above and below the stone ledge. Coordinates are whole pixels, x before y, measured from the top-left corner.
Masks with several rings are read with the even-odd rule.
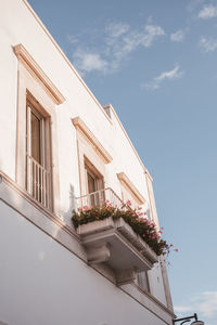
[[[18,43],[66,98],[55,108],[62,214],[71,216],[72,196],[79,196],[76,130],[72,123],[76,116],[113,157],[106,166],[108,185],[120,195],[116,173],[124,171],[149,200],[143,169],[119,123],[114,116],[112,122],[108,120],[23,0],[0,1],[0,170],[15,180],[17,58],[12,47]],[[149,325],[162,324],[21,216],[5,206],[1,208],[0,321],[10,325],[139,325],[144,320]],[[152,294],[166,304],[159,269],[150,274]],[[85,312],[80,306],[85,306]],[[116,312],[111,312],[113,308]]]

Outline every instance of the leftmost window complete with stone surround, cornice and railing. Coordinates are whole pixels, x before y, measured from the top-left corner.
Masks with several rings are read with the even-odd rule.
[[[18,72],[15,180],[35,199],[59,216],[55,108],[65,99],[22,44],[13,50]]]

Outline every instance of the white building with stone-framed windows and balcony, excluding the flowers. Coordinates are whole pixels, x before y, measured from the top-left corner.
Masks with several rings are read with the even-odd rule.
[[[152,179],[114,108],[26,0],[0,2],[0,324],[173,324],[164,258],[114,225],[88,246],[72,222],[73,209],[110,197],[158,224]]]

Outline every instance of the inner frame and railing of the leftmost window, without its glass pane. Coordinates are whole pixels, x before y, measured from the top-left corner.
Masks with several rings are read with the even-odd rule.
[[[33,156],[31,114],[40,122],[39,146],[40,161]],[[50,116],[42,106],[27,92],[26,98],[26,191],[37,202],[53,210]]]

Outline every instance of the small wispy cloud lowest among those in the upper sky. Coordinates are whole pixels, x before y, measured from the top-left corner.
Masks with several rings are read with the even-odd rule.
[[[183,76],[183,72],[180,70],[180,66],[177,64],[174,69],[164,72],[159,76],[153,78],[150,82],[143,83],[142,88],[156,90],[161,87],[162,82],[166,80],[176,80]]]

